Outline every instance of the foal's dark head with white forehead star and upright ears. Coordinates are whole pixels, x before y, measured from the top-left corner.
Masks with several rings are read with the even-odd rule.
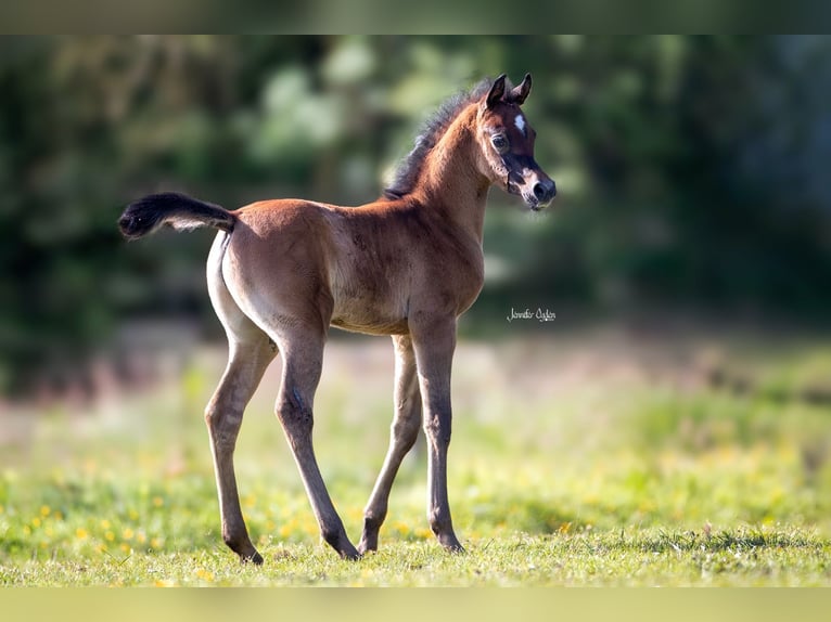
[[[520,106],[530,92],[530,74],[519,87],[507,90],[504,74],[494,80],[480,101],[476,140],[482,151],[481,169],[493,183],[522,196],[533,210],[542,209],[557,194],[553,180],[534,159],[537,132]]]

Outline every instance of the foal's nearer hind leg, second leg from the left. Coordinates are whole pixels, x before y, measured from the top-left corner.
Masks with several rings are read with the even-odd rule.
[[[349,542],[332,504],[311,443],[312,403],[320,380],[324,340],[324,336],[315,331],[296,329],[280,340],[283,380],[277,400],[277,416],[292,448],[323,540],[344,559],[357,559],[360,555]]]

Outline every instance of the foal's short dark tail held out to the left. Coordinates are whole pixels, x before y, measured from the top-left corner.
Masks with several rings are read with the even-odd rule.
[[[218,205],[197,200],[184,194],[164,192],[131,203],[118,219],[122,234],[136,239],[167,225],[178,231],[199,226],[233,230],[236,217]]]

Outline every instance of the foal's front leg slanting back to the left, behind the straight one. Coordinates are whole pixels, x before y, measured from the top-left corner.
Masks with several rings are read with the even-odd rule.
[[[395,345],[395,418],[389,430],[389,449],[384,466],[363,510],[363,533],[358,550],[378,549],[378,532],[386,518],[387,501],[401,461],[410,451],[421,427],[421,396],[416,375],[416,355],[409,336],[394,336]]]

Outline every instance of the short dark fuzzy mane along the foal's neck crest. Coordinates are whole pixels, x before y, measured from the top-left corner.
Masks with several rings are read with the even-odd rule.
[[[401,198],[413,191],[426,155],[436,146],[456,117],[470,104],[478,101],[490,89],[493,82],[491,79],[485,78],[471,90],[448,98],[424,121],[416,137],[416,146],[396,168],[393,183],[384,189],[385,198],[391,200]],[[509,91],[510,87],[506,86],[506,90]]]

